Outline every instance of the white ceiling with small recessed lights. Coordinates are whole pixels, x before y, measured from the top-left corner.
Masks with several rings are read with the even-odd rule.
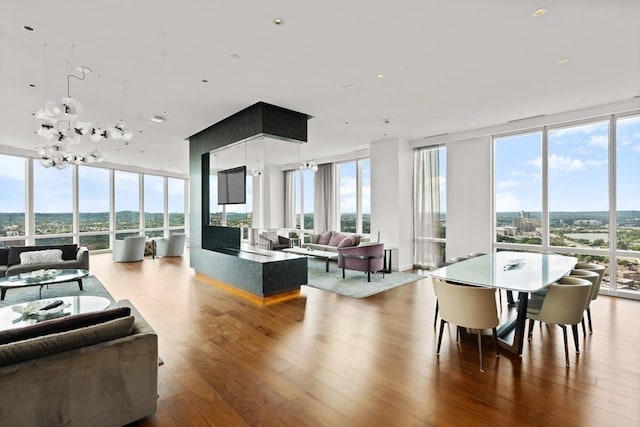
[[[32,113],[76,65],[93,70],[71,79],[81,120],[136,133],[78,148],[178,174],[185,138],[258,101],[313,116],[316,159],[616,102],[640,94],[639,16],[637,0],[3,0],[0,146],[42,146]]]

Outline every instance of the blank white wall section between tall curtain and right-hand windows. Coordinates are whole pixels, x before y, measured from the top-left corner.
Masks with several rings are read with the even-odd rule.
[[[447,143],[447,258],[491,252],[491,138]]]

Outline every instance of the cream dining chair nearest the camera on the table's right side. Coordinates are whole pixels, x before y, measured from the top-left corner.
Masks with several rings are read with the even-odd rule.
[[[541,301],[530,299],[527,307],[529,318],[529,340],[533,334],[535,321],[556,324],[562,329],[564,355],[569,367],[569,347],[567,344],[567,325],[573,330],[576,353],[580,353],[578,342],[578,323],[582,321],[584,310],[591,296],[593,284],[578,277],[563,277],[548,286],[547,295]]]

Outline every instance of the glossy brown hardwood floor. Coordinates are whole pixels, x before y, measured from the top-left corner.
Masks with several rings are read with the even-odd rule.
[[[481,373],[453,327],[436,357],[428,278],[366,299],[305,286],[261,307],[186,257],[92,255],[91,271],[159,335],[158,412],[136,426],[640,425],[638,301],[598,298],[569,369],[561,330],[543,326],[521,358],[496,358],[488,338]]]

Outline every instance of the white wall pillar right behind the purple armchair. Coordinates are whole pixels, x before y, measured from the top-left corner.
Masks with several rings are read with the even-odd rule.
[[[408,141],[371,143],[371,239],[394,247],[393,269],[413,266],[413,149]]]

